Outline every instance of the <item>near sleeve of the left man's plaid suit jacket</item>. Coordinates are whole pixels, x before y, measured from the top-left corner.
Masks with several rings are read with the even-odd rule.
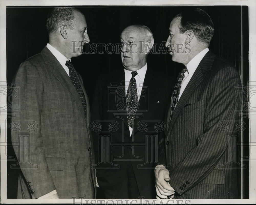
[[[13,92],[12,111],[19,110],[14,112],[11,123],[12,142],[18,142],[18,146],[13,147],[22,173],[33,192],[31,196],[38,198],[55,190],[41,134],[44,84],[36,66],[30,62],[20,65],[13,83],[20,87],[20,93]]]

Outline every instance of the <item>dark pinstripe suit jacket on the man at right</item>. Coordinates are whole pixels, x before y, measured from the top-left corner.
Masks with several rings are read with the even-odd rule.
[[[236,144],[228,133],[238,133],[239,82],[238,72],[208,51],[180,97],[165,139],[175,198],[238,198]]]

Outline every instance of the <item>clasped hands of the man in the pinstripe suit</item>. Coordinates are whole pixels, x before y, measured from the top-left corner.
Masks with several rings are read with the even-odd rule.
[[[163,165],[157,165],[155,168],[156,178],[156,197],[159,199],[173,198],[175,190],[169,184],[169,171]]]

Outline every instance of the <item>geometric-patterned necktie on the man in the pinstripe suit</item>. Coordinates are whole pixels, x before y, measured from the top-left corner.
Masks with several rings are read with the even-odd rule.
[[[177,78],[177,81],[175,83],[174,90],[173,90],[173,104],[172,104],[170,120],[172,118],[174,109],[176,108],[176,105],[177,105],[178,100],[179,100],[180,87],[181,87],[182,80],[184,78],[184,73],[187,72],[187,71],[188,71],[188,69],[185,66],[185,68],[180,71],[180,73],[178,75],[178,78]]]

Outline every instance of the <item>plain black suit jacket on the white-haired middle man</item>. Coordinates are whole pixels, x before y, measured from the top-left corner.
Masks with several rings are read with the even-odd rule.
[[[140,195],[155,198],[155,137],[158,135],[159,140],[164,134],[164,116],[167,100],[170,99],[170,84],[171,81],[166,75],[148,66],[134,120],[133,134],[130,136],[125,106],[124,69],[99,77],[92,106],[92,130],[95,131],[94,150],[96,155],[100,155],[96,166],[98,183],[107,194],[118,194],[126,167],[129,166],[127,161],[131,160]],[[100,121],[101,127],[97,127],[94,120]],[[109,126],[111,123],[112,127]],[[109,136],[109,141],[101,143],[99,136],[105,136],[104,139],[108,139],[106,136]]]

